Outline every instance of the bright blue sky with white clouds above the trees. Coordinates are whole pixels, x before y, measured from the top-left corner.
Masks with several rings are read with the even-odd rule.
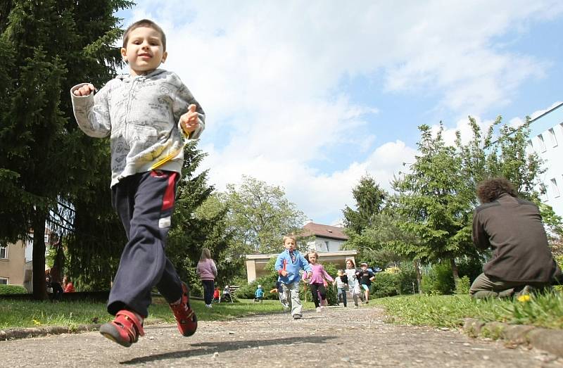
[[[418,126],[469,138],[468,116],[517,125],[563,100],[563,2],[135,0],[205,110],[209,184],[284,189],[308,219],[341,221],[371,175],[391,190]]]

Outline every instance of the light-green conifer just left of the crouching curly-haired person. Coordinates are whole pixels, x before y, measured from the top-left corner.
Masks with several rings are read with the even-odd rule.
[[[443,126],[436,137],[427,125],[419,129],[420,154],[410,172],[393,182],[399,193],[398,210],[405,220],[400,227],[419,240],[417,259],[447,260],[457,280],[455,258],[476,254],[467,231],[471,209],[467,196],[460,195],[467,191],[467,181],[461,175],[462,162],[455,147],[443,141]]]

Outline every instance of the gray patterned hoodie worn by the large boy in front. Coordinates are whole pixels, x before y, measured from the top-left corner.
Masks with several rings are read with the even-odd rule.
[[[194,104],[199,127],[190,134],[197,139],[205,128],[199,103],[174,72],[156,69],[148,75],[119,75],[98,93],[75,96],[70,89],[78,126],[90,137],[110,135],[111,184],[138,172],[150,171],[163,158],[170,160],[158,170],[181,172],[184,131],[179,118]]]

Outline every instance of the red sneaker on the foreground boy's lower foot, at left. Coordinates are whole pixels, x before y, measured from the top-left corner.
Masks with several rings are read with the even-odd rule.
[[[100,334],[125,346],[125,348],[129,348],[132,343],[137,343],[139,336],[145,336],[145,331],[143,331],[143,325],[133,312],[120,310],[112,322],[100,326]]]

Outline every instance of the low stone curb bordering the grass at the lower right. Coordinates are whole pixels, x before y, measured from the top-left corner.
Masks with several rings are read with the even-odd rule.
[[[542,329],[525,324],[505,324],[502,322],[483,322],[479,319],[467,318],[464,331],[472,337],[488,337],[502,339],[518,345],[529,345],[532,348],[545,350],[548,353],[563,357],[563,330]]]

